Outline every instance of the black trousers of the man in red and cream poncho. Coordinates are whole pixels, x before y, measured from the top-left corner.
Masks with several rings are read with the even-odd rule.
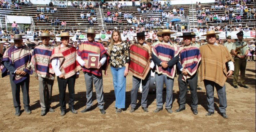
[[[68,84],[68,90],[69,90],[69,109],[74,109],[75,77],[76,77],[76,75],[73,75],[67,79],[62,79],[62,78],[57,77],[58,86],[59,86],[59,104],[60,104],[60,110],[62,110],[62,111],[66,110],[65,94],[66,94],[67,84]]]

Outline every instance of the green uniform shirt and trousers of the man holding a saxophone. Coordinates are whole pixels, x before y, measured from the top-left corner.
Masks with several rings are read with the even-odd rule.
[[[246,42],[234,42],[232,46],[232,50],[236,50],[236,48],[241,47],[243,45],[246,45]],[[246,51],[248,50],[248,45],[244,46],[242,49],[240,49],[241,54],[244,55]],[[238,85],[238,75],[240,71],[240,82],[241,85],[244,86],[245,83],[245,68],[246,68],[246,57],[244,59],[240,59],[238,57],[234,57],[234,78],[233,78],[233,85],[237,86]]]

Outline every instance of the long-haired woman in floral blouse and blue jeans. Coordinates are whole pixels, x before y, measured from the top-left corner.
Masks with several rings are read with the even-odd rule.
[[[108,53],[116,97],[115,113],[121,113],[122,109],[125,108],[126,76],[128,75],[130,58],[128,44],[122,41],[121,34],[116,29],[112,32]]]

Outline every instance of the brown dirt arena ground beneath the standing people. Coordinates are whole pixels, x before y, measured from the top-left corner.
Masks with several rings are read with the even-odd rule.
[[[100,114],[97,108],[96,94],[94,90],[93,110],[81,113],[80,111],[86,105],[86,89],[84,76],[81,72],[80,77],[75,83],[75,109],[78,114],[72,114],[68,110],[65,116],[60,116],[59,109],[59,91],[57,79],[53,86],[52,108],[54,113],[47,113],[41,116],[38,80],[31,75],[30,78],[30,115],[25,114],[22,103],[22,114],[18,117],[14,115],[12,92],[9,82],[9,77],[0,78],[0,131],[245,131],[255,132],[255,62],[247,62],[246,67],[246,84],[249,89],[238,88],[234,89],[232,77],[227,79],[227,115],[228,119],[223,118],[218,110],[218,97],[216,90],[215,97],[215,114],[206,117],[207,100],[204,85],[199,82],[202,90],[198,90],[198,115],[193,115],[191,111],[190,93],[187,93],[186,110],[172,114],[167,113],[164,109],[159,113],[153,113],[156,109],[156,95],[151,93],[148,95],[148,110],[143,112],[140,105],[141,94],[138,93],[138,105],[134,113],[130,113],[130,90],[132,87],[132,75],[128,74],[126,79],[126,109],[115,114],[115,94],[113,90],[112,75],[110,68],[108,76],[103,76],[103,91],[106,114]],[[174,81],[173,87],[173,107],[172,110],[179,108],[178,97],[179,88],[177,78]],[[165,100],[165,92],[163,100]],[[22,101],[22,94],[20,95]],[[68,101],[68,90],[66,94]],[[165,104],[164,104],[165,105]],[[164,107],[165,108],[165,107]],[[68,104],[67,104],[68,109]]]

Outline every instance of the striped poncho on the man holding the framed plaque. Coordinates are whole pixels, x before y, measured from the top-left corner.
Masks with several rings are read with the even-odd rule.
[[[96,68],[87,69],[83,67],[83,72],[88,72],[96,76],[101,76],[102,70],[106,70],[107,69],[106,65],[108,65],[108,55],[106,53],[104,46],[101,43],[97,43],[95,41],[94,42],[85,41],[79,46],[79,49],[77,50],[77,55],[80,56],[85,61],[85,63],[88,63],[89,53],[100,54],[99,60],[102,58],[103,54],[107,56],[106,63],[104,63],[104,65],[102,65],[100,69],[96,69]]]

